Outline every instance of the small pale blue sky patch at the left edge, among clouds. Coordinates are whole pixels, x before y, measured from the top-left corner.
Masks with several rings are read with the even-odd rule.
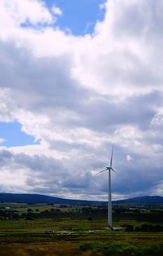
[[[38,144],[33,136],[26,135],[21,130],[20,123],[17,121],[0,122],[0,138],[4,139],[1,145],[6,147]]]

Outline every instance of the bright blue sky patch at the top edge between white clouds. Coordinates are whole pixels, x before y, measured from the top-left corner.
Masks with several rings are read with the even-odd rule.
[[[105,10],[100,8],[106,0],[44,0],[49,11],[52,7],[59,7],[62,15],[55,15],[56,20],[53,26],[64,31],[69,31],[73,35],[82,36],[86,33],[93,33],[95,24],[99,20],[104,20]],[[52,14],[52,11],[51,11]],[[34,27],[41,29],[49,24],[37,24],[33,26],[28,21],[21,24],[22,27]]]

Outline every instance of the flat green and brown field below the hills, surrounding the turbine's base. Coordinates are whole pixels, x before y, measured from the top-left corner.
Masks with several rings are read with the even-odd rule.
[[[0,204],[0,255],[163,255],[163,207]]]

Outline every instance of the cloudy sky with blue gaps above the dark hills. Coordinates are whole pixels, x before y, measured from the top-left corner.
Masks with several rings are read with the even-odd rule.
[[[0,192],[163,196],[163,1],[0,0]]]

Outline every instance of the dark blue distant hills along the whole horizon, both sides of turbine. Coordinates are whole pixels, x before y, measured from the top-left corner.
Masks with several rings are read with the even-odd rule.
[[[17,203],[40,203],[40,204],[64,204],[64,205],[106,205],[105,201],[86,201],[86,200],[73,200],[64,199],[54,196],[45,196],[38,194],[14,194],[14,193],[1,193],[0,202],[17,202]],[[134,205],[155,205],[163,204],[163,196],[142,196],[134,197],[125,200],[112,201],[113,205],[119,204],[134,204]]]

